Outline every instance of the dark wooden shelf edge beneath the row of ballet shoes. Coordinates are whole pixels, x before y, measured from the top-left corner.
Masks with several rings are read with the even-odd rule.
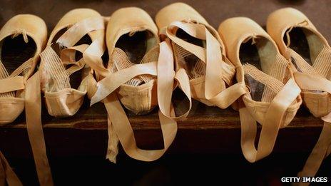
[[[174,103],[181,100],[181,96],[175,96]],[[108,138],[106,109],[103,103],[91,108],[88,105],[86,99],[81,110],[69,118],[53,118],[46,109],[42,110],[46,145],[51,157],[105,154]],[[148,115],[128,113],[128,117],[139,147],[163,147],[157,108]],[[321,129],[322,120],[300,108],[292,123],[280,130],[275,152],[311,150]],[[0,147],[11,157],[31,155],[24,114],[14,123],[0,128]],[[168,153],[241,153],[238,111],[208,107],[194,100],[188,118],[178,122],[178,135]]]

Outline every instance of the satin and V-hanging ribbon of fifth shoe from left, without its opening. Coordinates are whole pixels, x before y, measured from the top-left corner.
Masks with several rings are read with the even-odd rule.
[[[240,29],[236,29],[239,26]],[[292,69],[289,66],[290,62],[286,61],[283,57],[277,57],[281,55],[275,42],[253,20],[245,17],[227,19],[220,24],[218,32],[221,38],[223,38],[230,61],[237,67],[236,78],[239,83],[246,85],[245,76],[253,76],[255,74],[256,77],[253,76],[253,78],[265,84],[265,88],[279,90],[270,102],[253,100],[250,92],[245,93],[245,95],[238,99],[241,123],[241,148],[246,160],[256,162],[272,153],[278,131],[280,128],[288,125],[292,118],[294,118],[295,113],[297,113],[297,109],[302,103],[300,88],[292,78]],[[280,63],[278,60],[282,60],[285,63],[283,68],[286,69],[287,74],[279,77],[281,81],[258,70],[255,66],[242,64],[240,61],[240,46],[250,39],[252,40],[252,44],[260,42],[262,39],[270,42],[273,51],[269,51],[269,55],[273,55],[275,58],[272,59],[273,61],[268,62]],[[263,63],[263,61],[260,61],[260,63]],[[273,72],[282,71],[280,68],[273,68],[271,70]],[[265,88],[263,89],[264,92]],[[250,91],[255,90],[250,89]],[[262,125],[262,130],[258,139],[258,147],[255,147],[257,122]]]

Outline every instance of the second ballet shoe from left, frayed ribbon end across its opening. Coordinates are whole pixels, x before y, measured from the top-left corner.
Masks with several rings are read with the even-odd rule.
[[[41,88],[50,115],[71,116],[81,108],[93,81],[91,66],[103,63],[104,30],[103,16],[92,9],[69,11],[56,24],[40,55]]]

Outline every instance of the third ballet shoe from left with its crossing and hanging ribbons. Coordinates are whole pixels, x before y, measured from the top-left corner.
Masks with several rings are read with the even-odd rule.
[[[148,113],[156,107],[157,63],[161,50],[158,29],[146,11],[136,7],[118,9],[108,21],[106,44],[108,66],[92,67],[103,78],[96,84],[96,93],[91,98],[91,105],[103,101],[108,112],[106,158],[116,162],[119,140],[130,157],[143,161],[157,160],[173,142],[177,123],[159,112],[164,148],[139,149],[121,103],[136,114]]]

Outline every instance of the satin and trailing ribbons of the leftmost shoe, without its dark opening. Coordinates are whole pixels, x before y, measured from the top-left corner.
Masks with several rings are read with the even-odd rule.
[[[2,88],[0,93],[10,93],[11,91],[22,91],[22,93],[14,93],[14,95],[19,96],[17,98],[16,95],[15,97],[5,96],[0,98],[0,120],[4,123],[11,123],[25,108],[26,129],[34,155],[39,184],[53,185],[51,169],[46,155],[44,133],[41,126],[40,74],[39,72],[34,73],[36,64],[39,62],[39,53],[46,43],[46,24],[39,17],[29,14],[14,16],[1,29],[0,41],[7,36],[19,36],[20,34],[23,35],[26,43],[34,42],[36,44],[36,51],[34,51],[32,58],[24,62],[19,68],[16,68],[9,77],[1,79]],[[28,36],[33,41],[29,41]],[[3,184],[6,182],[8,185],[22,185],[2,153],[0,182]]]

